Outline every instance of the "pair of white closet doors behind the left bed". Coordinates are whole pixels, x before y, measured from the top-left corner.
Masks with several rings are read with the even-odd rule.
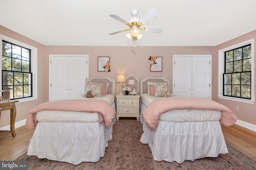
[[[85,92],[88,55],[50,55],[49,101],[71,99]]]

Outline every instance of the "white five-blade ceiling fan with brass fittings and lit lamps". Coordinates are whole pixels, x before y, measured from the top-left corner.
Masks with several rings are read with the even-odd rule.
[[[139,11],[134,9],[131,10],[131,14],[133,18],[131,18],[129,21],[124,20],[122,17],[118,16],[117,14],[110,14],[109,16],[126,24],[129,28],[127,29],[121,29],[119,31],[115,31],[112,33],[109,33],[109,35],[114,35],[116,33],[121,33],[124,31],[128,31],[126,36],[132,41],[140,39],[143,35],[140,33],[141,31],[149,31],[152,33],[161,33],[163,31],[162,28],[156,28],[156,27],[145,27],[144,24],[147,23],[148,21],[152,20],[158,15],[158,10],[156,9],[150,9],[142,18],[136,18],[138,15]]]

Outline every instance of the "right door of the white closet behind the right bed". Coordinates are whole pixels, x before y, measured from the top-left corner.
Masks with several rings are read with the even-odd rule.
[[[210,99],[209,57],[192,58],[192,98]]]

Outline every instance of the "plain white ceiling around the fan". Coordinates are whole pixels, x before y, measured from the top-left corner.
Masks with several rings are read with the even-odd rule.
[[[159,14],[144,26],[136,46],[216,46],[256,30],[256,0],[0,0],[0,25],[44,45],[131,46],[125,20],[154,8]]]

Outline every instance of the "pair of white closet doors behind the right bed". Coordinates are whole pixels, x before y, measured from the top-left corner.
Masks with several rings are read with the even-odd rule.
[[[174,57],[173,94],[211,99],[211,69],[210,56]]]

